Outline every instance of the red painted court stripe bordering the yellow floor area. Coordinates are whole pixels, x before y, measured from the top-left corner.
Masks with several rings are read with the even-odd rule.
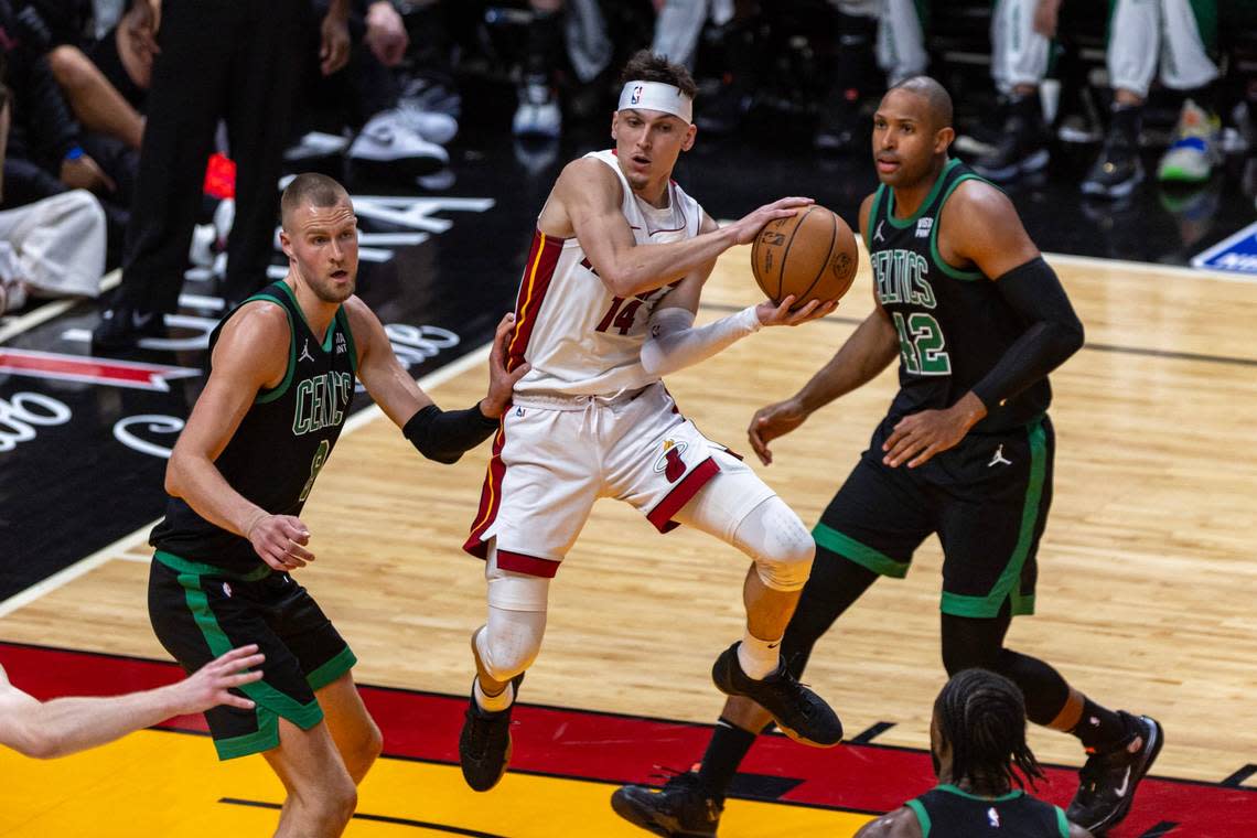
[[[718,650],[710,652],[714,658]],[[696,656],[695,666],[706,665],[700,657]],[[0,663],[18,687],[39,699],[148,688],[180,676],[173,663],[10,643],[0,643]],[[469,680],[470,673],[469,656]],[[383,731],[385,754],[458,763],[465,696],[362,685],[360,690]],[[527,704],[515,709],[513,719],[517,724],[512,726],[515,740],[512,769],[608,783],[651,781],[650,775],[660,765],[684,770],[701,756],[711,731],[709,725]],[[200,717],[189,716],[165,726],[205,730]],[[206,763],[214,759],[209,744],[205,759]],[[781,798],[783,802],[859,812],[890,810],[934,784],[929,755],[920,750],[850,744],[806,748],[779,735],[760,736],[742,770],[799,780]],[[1077,788],[1076,770],[1060,766],[1046,770],[1047,781],[1040,784],[1040,795],[1067,805]],[[1149,778],[1139,786],[1130,817],[1110,834],[1141,835],[1165,820],[1179,824],[1174,834],[1249,838],[1249,827],[1257,823],[1257,789]]]

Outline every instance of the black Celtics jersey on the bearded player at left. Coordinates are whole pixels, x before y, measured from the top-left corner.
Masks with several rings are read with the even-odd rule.
[[[215,465],[233,489],[268,513],[299,515],[353,398],[353,335],[342,307],[321,342],[284,281],[245,302],[251,300],[269,300],[288,314],[288,372],[274,389],[258,392]],[[210,353],[230,318],[210,335]],[[181,498],[167,501],[166,518],[153,529],[150,543],[231,572],[248,573],[263,563],[248,539],[205,520]]]

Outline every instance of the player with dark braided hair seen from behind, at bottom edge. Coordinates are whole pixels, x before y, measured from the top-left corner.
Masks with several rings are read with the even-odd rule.
[[[1026,744],[1026,701],[1008,678],[954,675],[934,701],[930,756],[939,784],[855,838],[1090,838],[1060,808],[1026,794],[1024,783],[1043,771]]]

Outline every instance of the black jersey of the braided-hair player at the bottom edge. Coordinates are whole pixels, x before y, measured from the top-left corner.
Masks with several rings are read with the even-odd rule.
[[[940,785],[905,805],[916,813],[925,838],[1070,838],[1060,807],[1021,790],[979,798]]]

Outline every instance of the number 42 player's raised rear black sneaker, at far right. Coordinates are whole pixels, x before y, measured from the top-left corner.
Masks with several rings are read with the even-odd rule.
[[[1102,835],[1117,825],[1130,812],[1135,800],[1135,788],[1161,753],[1164,734],[1160,724],[1148,716],[1133,716],[1119,711],[1134,731],[1126,741],[1111,751],[1091,754],[1079,771],[1079,792],[1065,817]]]

